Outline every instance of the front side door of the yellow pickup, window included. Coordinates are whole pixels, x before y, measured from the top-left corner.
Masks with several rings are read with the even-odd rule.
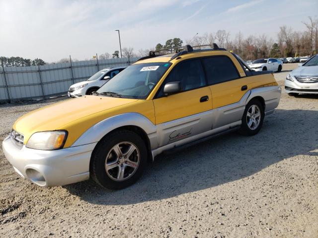
[[[175,81],[181,82],[181,92],[164,96],[164,85]],[[211,99],[200,60],[178,63],[153,100],[159,146],[211,130]]]

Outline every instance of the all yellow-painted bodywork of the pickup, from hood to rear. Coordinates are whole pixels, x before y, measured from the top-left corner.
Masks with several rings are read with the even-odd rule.
[[[243,78],[154,99],[166,76],[179,62],[192,58],[218,55],[230,57],[236,65],[239,75]],[[170,59],[171,57],[158,57],[140,60],[136,63],[168,62]],[[70,99],[24,115],[14,123],[13,129],[24,135],[24,143],[27,143],[30,136],[35,132],[67,130],[69,134],[64,146],[66,148],[71,146],[80,135],[94,124],[119,114],[140,113],[154,124],[158,124],[238,102],[246,92],[240,90],[243,85],[247,85],[248,90],[256,87],[277,85],[273,75],[270,74],[245,77],[245,72],[239,62],[227,51],[189,53],[182,55],[181,59],[174,59],[170,62],[172,65],[146,100],[98,96]],[[200,98],[206,95],[209,96],[209,101],[199,103]]]

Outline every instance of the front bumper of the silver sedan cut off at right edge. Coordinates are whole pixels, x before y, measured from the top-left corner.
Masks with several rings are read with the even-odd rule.
[[[318,94],[318,83],[301,83],[285,79],[286,93]]]

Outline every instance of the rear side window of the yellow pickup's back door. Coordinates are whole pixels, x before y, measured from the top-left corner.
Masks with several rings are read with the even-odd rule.
[[[239,78],[234,63],[226,56],[205,58],[202,62],[209,85]]]

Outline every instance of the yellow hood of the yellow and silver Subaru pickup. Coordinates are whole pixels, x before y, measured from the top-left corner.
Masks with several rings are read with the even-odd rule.
[[[90,95],[69,99],[22,116],[15,121],[13,129],[24,135],[26,143],[35,132],[68,129],[66,125],[73,121],[136,101],[138,100]]]

